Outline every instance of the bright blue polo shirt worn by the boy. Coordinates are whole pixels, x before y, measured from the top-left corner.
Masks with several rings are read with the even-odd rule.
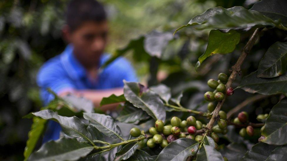
[[[108,54],[100,57],[100,66],[109,59]],[[51,88],[57,94],[71,89],[111,89],[123,87],[123,79],[136,82],[137,77],[131,63],[123,57],[117,58],[108,65],[95,82],[91,82],[85,68],[74,57],[73,47],[68,45],[60,55],[48,60],[39,70],[37,84],[40,87],[41,99],[47,105],[54,99],[46,89]],[[61,126],[49,121],[43,143],[59,139]]]

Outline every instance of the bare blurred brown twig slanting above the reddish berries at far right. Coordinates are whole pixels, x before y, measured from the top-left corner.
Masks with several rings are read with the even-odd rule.
[[[228,113],[227,113],[227,120],[230,119],[231,116],[233,116],[236,112],[240,111],[243,107],[247,106],[248,104],[251,104],[253,102],[259,101],[261,99],[264,99],[268,96],[262,95],[262,94],[256,94],[252,97],[247,98],[246,100],[244,100],[243,102],[241,102],[240,104],[238,104],[237,106],[235,106],[233,109],[231,109]]]

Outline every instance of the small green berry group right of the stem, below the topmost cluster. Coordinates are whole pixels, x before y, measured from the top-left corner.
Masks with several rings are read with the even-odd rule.
[[[220,119],[217,121],[217,125],[212,127],[212,133],[210,134],[210,137],[213,138],[213,140],[217,143],[219,140],[218,133],[226,134],[228,132],[227,130],[227,122],[226,122],[226,113],[224,111],[219,111],[218,115],[220,116]]]

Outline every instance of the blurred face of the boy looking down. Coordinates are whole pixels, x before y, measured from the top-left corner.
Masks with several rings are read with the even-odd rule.
[[[74,46],[76,58],[85,67],[95,67],[99,64],[99,57],[104,52],[107,42],[107,21],[87,21],[66,34],[69,43]]]

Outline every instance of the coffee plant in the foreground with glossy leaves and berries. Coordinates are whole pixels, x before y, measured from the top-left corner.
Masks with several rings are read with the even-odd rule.
[[[33,119],[26,160],[286,160],[285,8],[283,0],[262,0],[249,10],[215,7],[175,33],[153,31],[132,40],[101,70],[133,50],[135,61],[150,62],[148,87],[124,80],[123,95],[103,98],[101,106],[119,103],[117,116],[95,113],[85,98],[50,91],[54,101],[24,117]],[[195,30],[210,32],[193,67],[186,48]],[[273,34],[273,44],[260,40],[265,34]],[[268,49],[258,58],[253,46]],[[166,64],[181,68],[158,84],[156,73]],[[61,138],[34,151],[47,120],[61,125]]]

